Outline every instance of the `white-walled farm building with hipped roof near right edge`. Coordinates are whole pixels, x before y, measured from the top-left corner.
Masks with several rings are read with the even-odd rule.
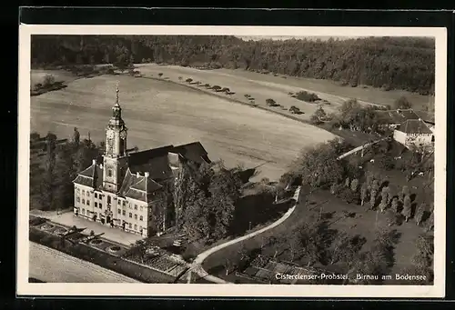
[[[421,119],[403,122],[393,132],[393,138],[410,149],[419,146],[430,147],[434,143],[433,132]]]

